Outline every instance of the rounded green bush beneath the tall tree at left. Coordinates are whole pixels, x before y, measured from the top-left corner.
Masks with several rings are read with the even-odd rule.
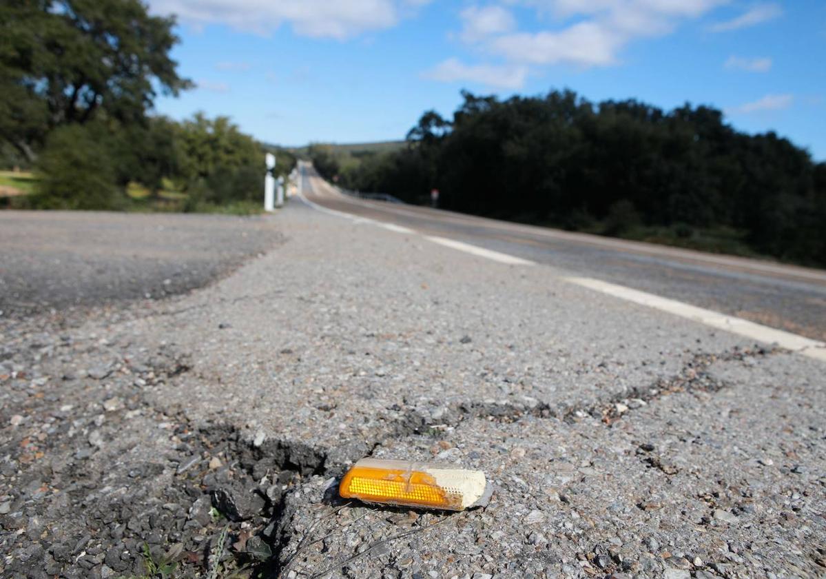
[[[37,160],[40,181],[31,202],[41,209],[116,209],[116,184],[106,131],[68,125],[52,131]]]

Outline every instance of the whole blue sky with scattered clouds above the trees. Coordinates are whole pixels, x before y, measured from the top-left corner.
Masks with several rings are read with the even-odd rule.
[[[724,111],[826,160],[826,2],[149,0],[197,88],[159,113],[230,116],[264,142],[403,139],[460,91]]]

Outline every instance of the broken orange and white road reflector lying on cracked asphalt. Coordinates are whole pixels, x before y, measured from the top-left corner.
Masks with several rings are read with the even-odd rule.
[[[359,460],[339,484],[345,499],[444,510],[487,505],[492,491],[482,471],[377,458]]]

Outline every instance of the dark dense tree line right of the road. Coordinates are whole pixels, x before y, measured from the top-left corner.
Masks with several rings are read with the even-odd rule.
[[[311,154],[344,187],[407,202],[437,188],[453,211],[826,265],[826,164],[712,107],[463,92],[452,119],[425,112],[396,151],[347,168]]]

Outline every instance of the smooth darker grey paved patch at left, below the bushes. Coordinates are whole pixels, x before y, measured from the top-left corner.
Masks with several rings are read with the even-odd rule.
[[[173,296],[279,242],[267,217],[0,211],[0,316]]]

